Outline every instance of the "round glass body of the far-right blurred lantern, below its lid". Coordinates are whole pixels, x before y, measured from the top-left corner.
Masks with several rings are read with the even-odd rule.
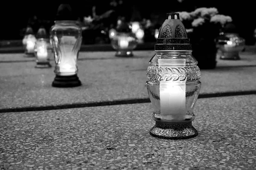
[[[235,33],[224,33],[217,40],[220,59],[239,60],[239,52],[244,49],[245,40]]]

